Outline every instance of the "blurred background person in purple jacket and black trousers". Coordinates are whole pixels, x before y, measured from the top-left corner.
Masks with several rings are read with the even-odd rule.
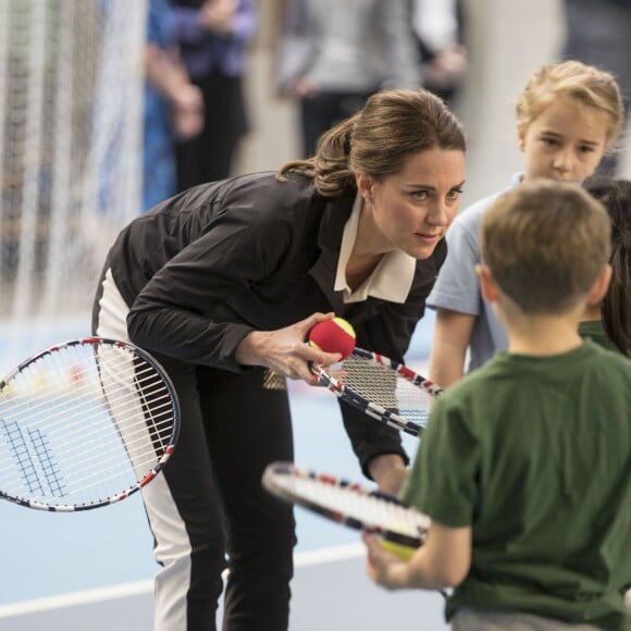
[[[177,0],[175,14],[182,60],[205,101],[203,129],[176,146],[182,191],[231,175],[248,131],[243,77],[257,13],[252,0]]]

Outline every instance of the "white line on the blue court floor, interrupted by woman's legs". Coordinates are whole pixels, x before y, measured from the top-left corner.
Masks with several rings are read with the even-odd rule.
[[[358,558],[364,554],[366,547],[361,543],[332,546],[318,550],[296,553],[294,557],[294,565],[296,568],[304,568]],[[110,587],[85,590],[82,592],[62,594],[60,596],[50,596],[47,598],[22,601],[12,605],[3,605],[0,606],[0,619],[38,614],[41,611],[49,611],[51,609],[63,609],[66,607],[91,605],[95,603],[115,601],[119,598],[146,596],[151,595],[152,593],[153,579],[137,581],[134,583],[122,583],[120,585],[112,585]]]

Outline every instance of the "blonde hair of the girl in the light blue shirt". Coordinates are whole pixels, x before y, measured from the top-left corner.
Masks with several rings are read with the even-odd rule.
[[[609,116],[606,149],[611,149],[624,121],[624,106],[614,75],[573,60],[540,67],[530,76],[517,101],[518,124],[528,127],[552,101],[561,96]]]

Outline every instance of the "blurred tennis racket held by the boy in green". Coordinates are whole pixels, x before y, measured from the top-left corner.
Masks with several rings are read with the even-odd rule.
[[[409,558],[423,543],[430,518],[393,495],[370,491],[357,482],[272,462],[262,483],[270,493],[355,530],[376,533],[388,549]]]

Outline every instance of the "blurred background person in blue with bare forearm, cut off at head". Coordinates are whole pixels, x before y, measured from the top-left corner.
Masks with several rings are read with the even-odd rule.
[[[150,0],[145,47],[143,208],[177,193],[175,140],[203,127],[203,98],[180,60],[173,5]]]

